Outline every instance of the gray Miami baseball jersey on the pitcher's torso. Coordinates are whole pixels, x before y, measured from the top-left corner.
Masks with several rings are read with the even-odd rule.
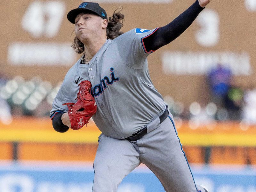
[[[156,119],[165,103],[150,80],[147,56],[152,51],[147,52],[142,41],[156,30],[132,29],[108,39],[88,65],[78,60],[65,76],[51,115],[67,112],[62,104],[76,103],[77,84],[89,80],[98,107],[92,118],[106,136],[127,138]]]

